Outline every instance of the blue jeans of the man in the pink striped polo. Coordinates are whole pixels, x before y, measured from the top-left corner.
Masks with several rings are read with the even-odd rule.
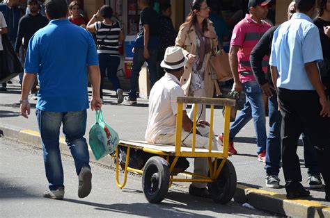
[[[266,150],[266,117],[265,103],[262,99],[262,90],[257,81],[242,83],[243,91],[246,96],[244,108],[239,112],[233,124],[230,126],[229,137],[235,138],[237,133],[253,118],[254,130],[257,135],[257,153]]]

